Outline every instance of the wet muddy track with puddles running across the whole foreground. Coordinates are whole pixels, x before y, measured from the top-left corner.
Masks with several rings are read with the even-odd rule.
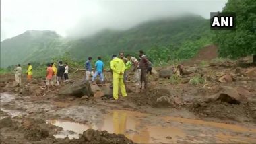
[[[247,122],[226,124],[199,120],[197,116],[189,112],[186,114],[182,110],[180,111],[182,114],[177,114],[179,110],[154,114],[120,110],[118,104],[112,101],[97,106],[93,104],[74,106],[66,102],[49,104],[42,102],[35,105],[29,101],[30,99],[26,97],[1,93],[1,111],[7,113],[1,118],[5,118],[8,114],[13,117],[26,115],[42,118],[47,124],[63,128],[55,133],[56,138],[78,138],[79,134],[87,129],[97,129],[124,134],[135,143],[254,143],[256,141],[254,124]],[[9,106],[13,102],[16,106]],[[112,106],[107,107],[109,104]],[[30,108],[30,111],[26,110],[27,108]],[[44,111],[35,114],[36,110]]]

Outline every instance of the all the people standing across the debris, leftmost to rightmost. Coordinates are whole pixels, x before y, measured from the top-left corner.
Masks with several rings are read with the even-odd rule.
[[[95,63],[95,69],[93,71],[92,68],[92,57],[88,57],[86,63],[84,63],[86,68],[86,80],[90,81],[94,85],[96,77],[100,77],[100,81],[104,84],[104,62],[101,57],[98,57],[98,60]],[[144,85],[144,90],[147,90],[148,79],[147,74],[151,74],[152,64],[144,54],[142,50],[139,51],[139,61],[131,56],[126,55],[124,52],[119,52],[119,57],[117,55],[112,56],[112,60],[110,61],[110,70],[113,73],[113,98],[118,99],[119,87],[121,89],[122,96],[127,96],[126,93],[126,81],[127,81],[127,70],[131,69],[134,72],[134,82],[136,83],[136,92],[140,92],[142,89],[142,85]],[[15,71],[15,80],[22,84],[22,67],[20,64],[14,69]],[[46,69],[46,85],[59,85],[69,79],[68,72],[69,66],[67,63],[63,65],[62,61],[59,61],[58,67],[56,67],[55,63],[48,63]],[[28,82],[32,79],[32,65],[28,63],[28,69],[26,71]]]

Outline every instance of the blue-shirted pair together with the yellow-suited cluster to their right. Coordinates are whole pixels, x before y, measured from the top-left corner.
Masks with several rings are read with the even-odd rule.
[[[136,92],[140,92],[142,85],[144,84],[145,91],[147,90],[148,79],[147,74],[152,71],[152,63],[148,60],[146,55],[142,50],[139,51],[139,61],[127,55],[125,57],[124,52],[119,52],[119,57],[117,55],[112,56],[110,61],[110,70],[113,73],[113,98],[118,99],[119,87],[121,89],[122,96],[127,96],[125,83],[127,81],[127,70],[132,68],[134,71],[134,79],[136,83]],[[95,79],[99,75],[100,81],[104,84],[104,63],[101,57],[98,57],[98,61],[95,63],[95,73],[92,71],[92,57],[88,57],[86,63],[84,63],[86,68],[86,80],[90,80],[92,76],[92,84],[95,84]]]

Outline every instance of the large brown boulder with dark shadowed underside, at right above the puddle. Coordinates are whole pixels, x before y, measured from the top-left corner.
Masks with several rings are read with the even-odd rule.
[[[227,102],[229,104],[240,104],[241,101],[246,100],[245,97],[238,94],[236,89],[233,87],[223,86],[220,87],[220,92],[208,96],[208,101],[217,101]]]

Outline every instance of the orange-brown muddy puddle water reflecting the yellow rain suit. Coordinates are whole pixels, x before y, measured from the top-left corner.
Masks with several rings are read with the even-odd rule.
[[[256,141],[256,127],[237,126],[203,120],[175,117],[156,117],[139,112],[113,110],[102,122],[79,124],[69,121],[49,120],[63,127],[55,137],[78,137],[86,129],[106,130],[124,134],[136,143],[252,143]],[[67,131],[76,134],[69,134]],[[63,134],[64,133],[64,134]]]

